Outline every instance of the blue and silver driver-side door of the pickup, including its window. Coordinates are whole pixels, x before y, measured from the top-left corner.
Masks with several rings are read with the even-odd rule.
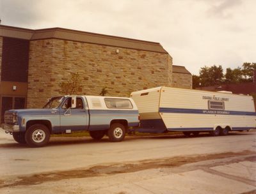
[[[60,110],[61,131],[87,130],[89,126],[89,112],[86,102],[76,97],[76,108],[71,108],[71,98],[67,98]]]

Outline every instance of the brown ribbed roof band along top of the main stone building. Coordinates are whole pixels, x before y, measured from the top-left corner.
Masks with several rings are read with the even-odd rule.
[[[93,43],[97,45],[106,45],[111,47],[132,48],[136,50],[146,50],[151,52],[159,52],[168,54],[160,43],[152,41],[135,40],[131,38],[123,38],[119,36],[109,36],[97,33],[88,33],[84,31],[76,31],[72,29],[64,29],[60,27],[48,29],[24,29],[20,27],[0,25],[0,36],[10,38],[20,38],[25,40],[45,40],[60,39],[79,41],[84,43]]]

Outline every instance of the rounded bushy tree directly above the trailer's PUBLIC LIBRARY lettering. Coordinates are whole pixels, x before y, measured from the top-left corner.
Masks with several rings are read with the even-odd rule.
[[[223,69],[222,66],[204,66],[199,71],[201,78],[201,86],[214,86],[223,82]]]

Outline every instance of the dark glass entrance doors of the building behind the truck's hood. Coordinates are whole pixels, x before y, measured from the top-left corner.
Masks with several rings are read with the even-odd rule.
[[[10,109],[25,108],[26,98],[22,97],[2,97],[1,123],[4,123],[4,112]]]

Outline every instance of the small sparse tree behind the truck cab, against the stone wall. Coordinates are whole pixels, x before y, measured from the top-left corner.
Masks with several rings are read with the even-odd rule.
[[[71,73],[71,77],[67,81],[59,84],[62,94],[77,94],[82,91],[81,77],[79,73]]]

